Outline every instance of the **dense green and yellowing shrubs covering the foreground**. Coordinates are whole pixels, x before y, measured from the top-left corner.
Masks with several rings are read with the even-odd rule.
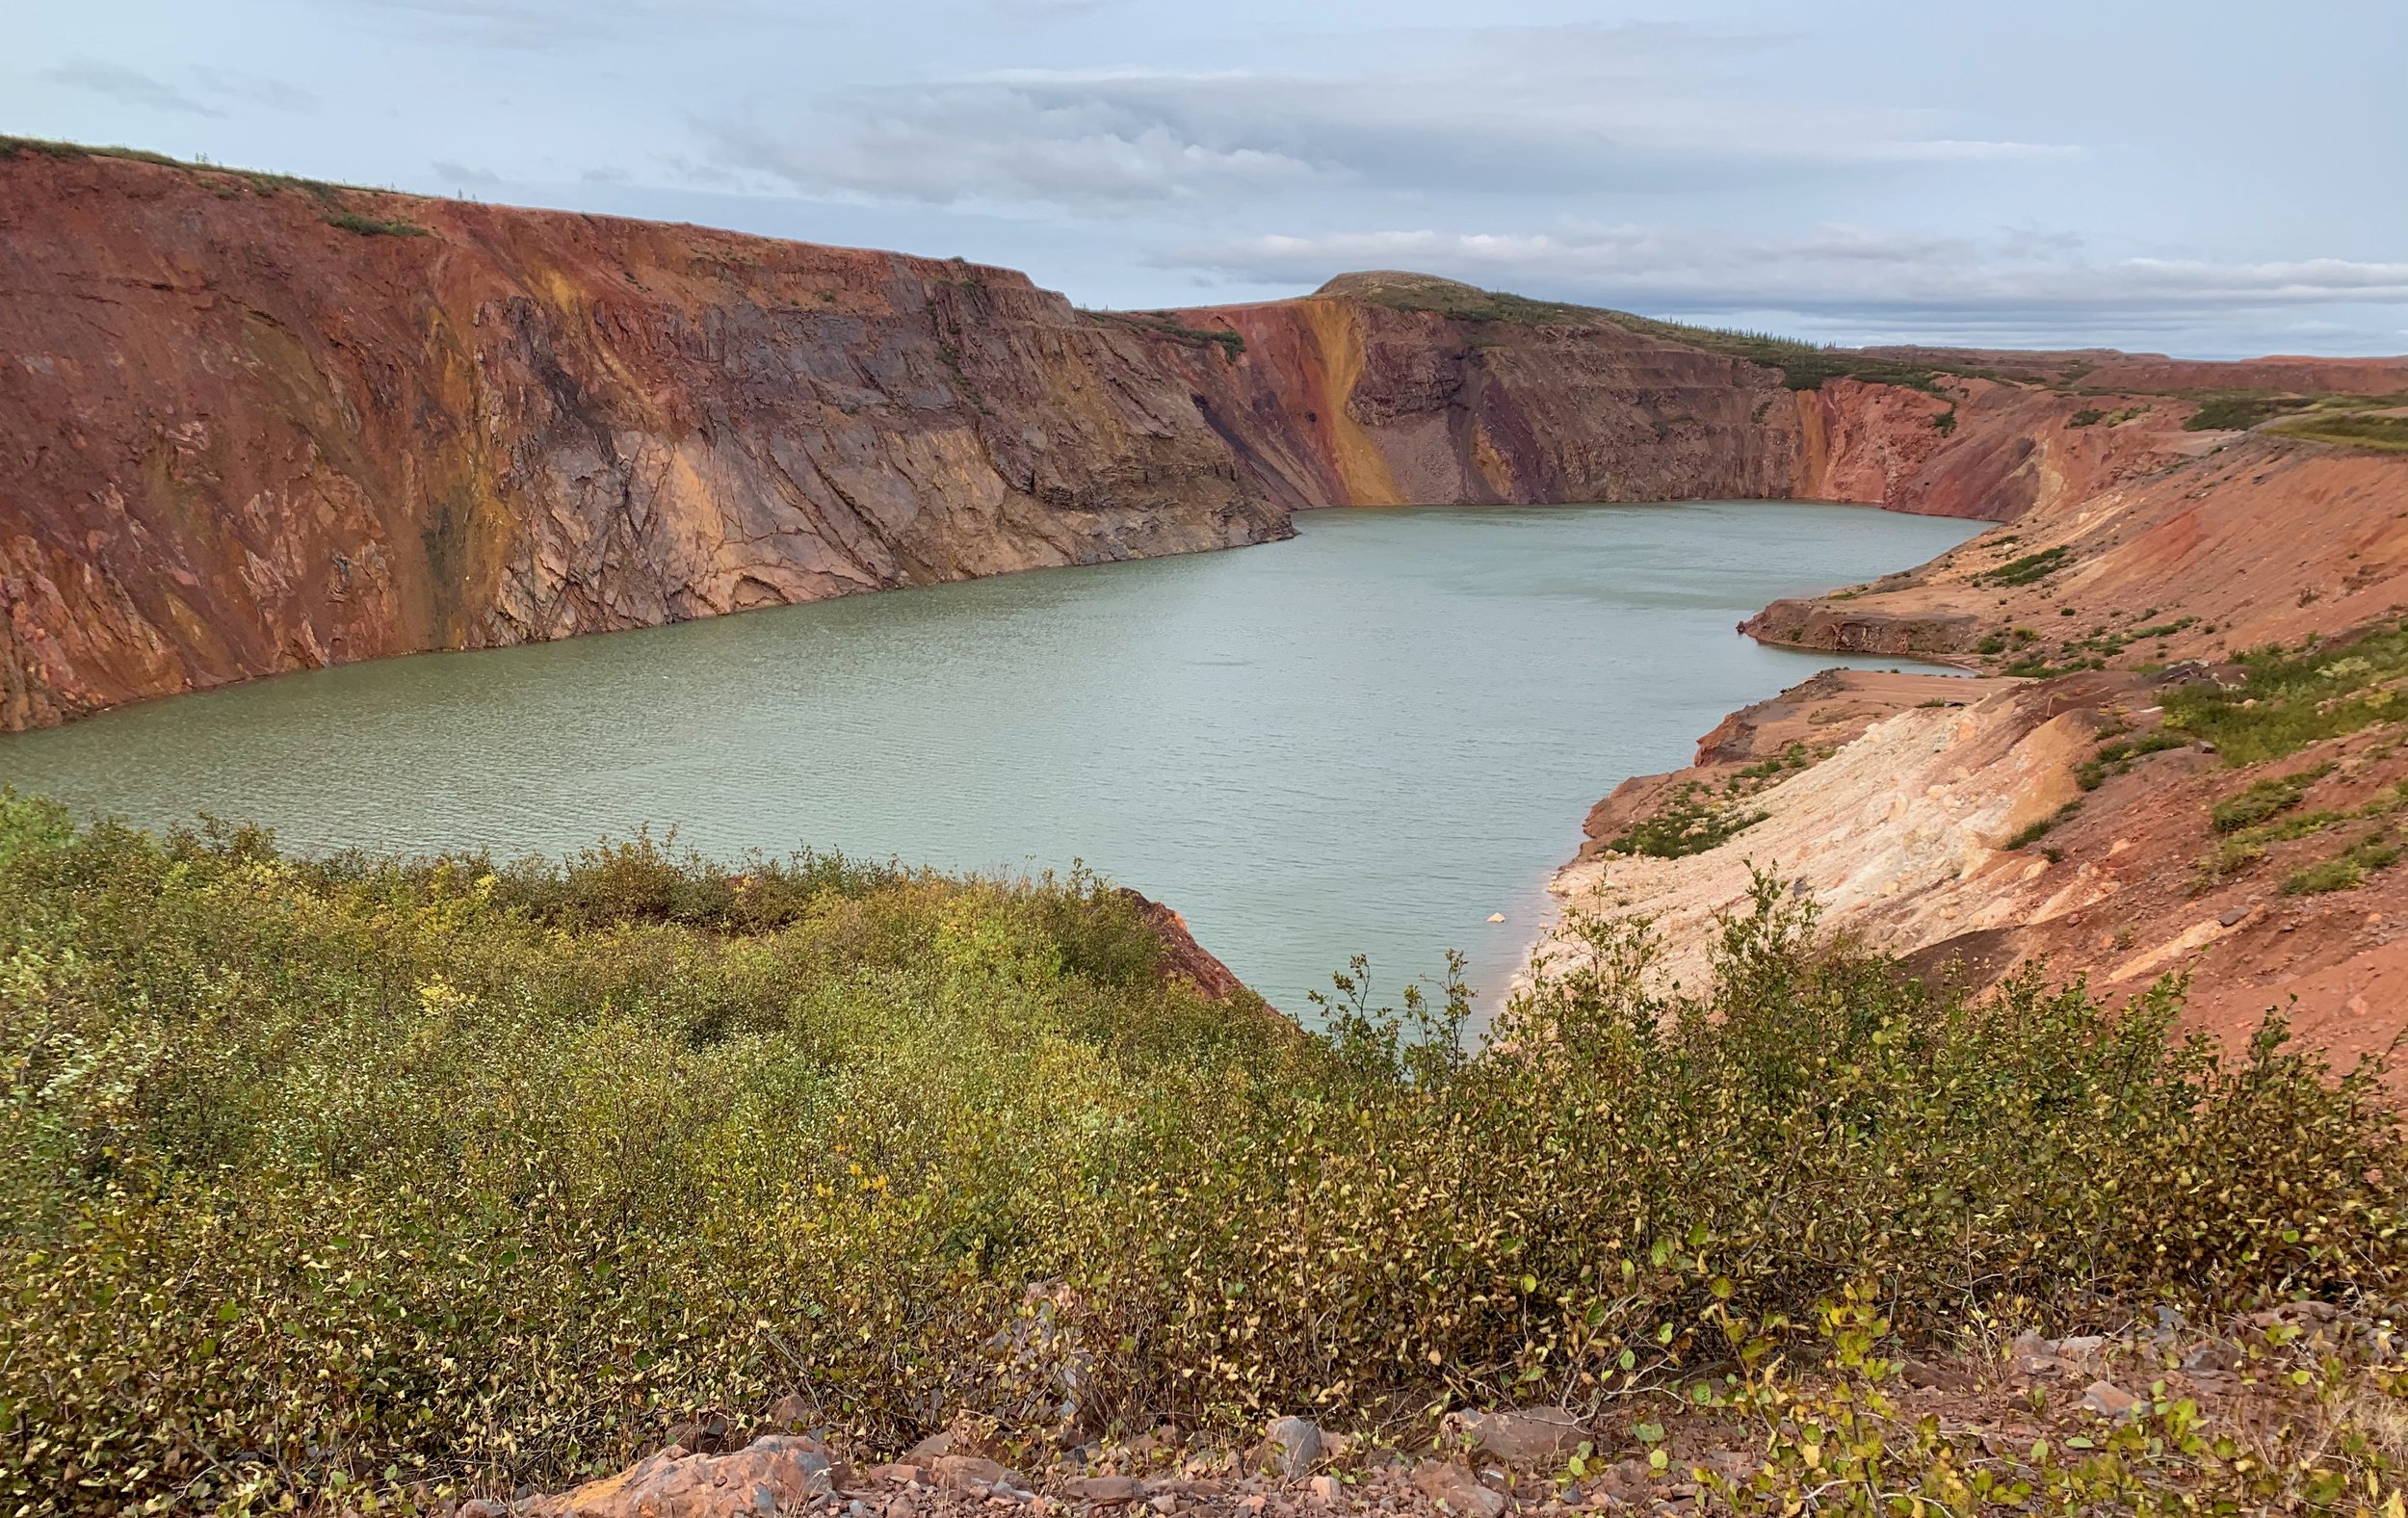
[[[2302,1434],[2239,1443],[1885,1400],[2001,1325],[2391,1311],[2374,1067],[2177,1039],[2170,983],[1967,998],[1772,882],[1710,985],[1580,932],[1471,1051],[1452,978],[1346,978],[1315,1034],[1209,1002],[1086,875],[311,860],[5,800],[0,1494],[419,1511],[787,1393],[862,1451],[1563,1402],[1662,1453],[1700,1410],[1763,1511],[2391,1491],[2389,1349],[2268,1361]]]

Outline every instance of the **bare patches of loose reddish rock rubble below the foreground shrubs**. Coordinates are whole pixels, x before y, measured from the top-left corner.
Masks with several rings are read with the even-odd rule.
[[[2025,1332],[1989,1352],[1895,1361],[1883,1385],[1895,1417],[2030,1448],[2126,1424],[2172,1398],[2196,1400],[2208,1426],[2247,1422],[2256,1402],[2290,1395],[2280,1378],[2268,1381],[2271,1354],[2389,1354],[2369,1335],[2389,1328],[2326,1304],[2239,1318],[2230,1337],[2165,1313],[2155,1330]],[[669,1448],[619,1475],[554,1496],[467,1501],[453,1518],[1652,1516],[1717,1508],[1714,1482],[1746,1484],[1765,1455],[1760,1429],[1674,1400],[1589,1417],[1570,1407],[1457,1412],[1421,1448],[1324,1431],[1308,1417],[1271,1419],[1245,1448],[1182,1441],[1165,1426],[1026,1467],[954,1429],[855,1467],[792,1431],[809,1412],[785,1398],[751,1426],[732,1414],[694,1417],[669,1429]],[[1649,1419],[1659,1426],[1647,1429]]]

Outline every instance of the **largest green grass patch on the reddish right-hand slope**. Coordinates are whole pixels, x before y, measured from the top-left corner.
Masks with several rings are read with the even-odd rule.
[[[2408,624],[2312,648],[2239,655],[2239,687],[2186,684],[2165,694],[2165,725],[2213,742],[2225,764],[2261,764],[2312,742],[2408,716]]]

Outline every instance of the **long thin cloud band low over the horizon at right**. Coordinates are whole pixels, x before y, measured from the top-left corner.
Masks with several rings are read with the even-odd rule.
[[[1799,313],[1902,328],[2211,323],[2237,311],[2408,304],[2408,263],[2093,258],[2081,239],[2008,229],[1922,236],[1816,226],[1799,236],[1618,226],[1577,234],[1370,231],[1182,248],[1165,267],[1245,284],[1320,284],[1409,267],[1649,313]]]

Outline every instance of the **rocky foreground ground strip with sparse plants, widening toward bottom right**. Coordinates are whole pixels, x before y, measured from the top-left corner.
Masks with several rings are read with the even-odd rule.
[[[816,1407],[790,1395],[751,1426],[727,1414],[677,1424],[657,1453],[573,1491],[445,1508],[453,1518],[1503,1518],[1847,1508],[1852,1496],[1905,1499],[1938,1479],[2030,1511],[2121,1508],[2141,1496],[2285,1511],[2314,1499],[2316,1482],[2348,1487],[2355,1463],[2369,1494],[2360,1511],[2391,1513],[2372,1506],[2372,1472],[2408,1455],[2408,1412],[2394,1400],[2403,1364],[2386,1318],[2300,1301],[2220,1332],[2160,1311],[2153,1325],[2114,1335],[2020,1332],[1934,1359],[1859,1349],[1787,1388],[1705,1373],[1587,1410],[1457,1412],[1421,1424],[1421,1436],[1281,1417],[1245,1448],[1165,1424],[1127,1441],[1014,1451],[992,1431],[956,1426],[877,1463],[804,1431]],[[2071,1508],[2052,1506],[2064,1501]]]

